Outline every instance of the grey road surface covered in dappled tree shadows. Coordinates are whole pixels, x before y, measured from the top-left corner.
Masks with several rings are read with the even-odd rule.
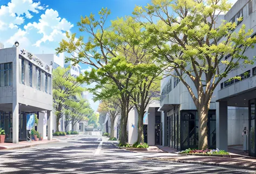
[[[90,144],[92,143],[92,144]],[[3,173],[235,173],[233,169],[212,166],[165,163],[128,156],[122,149],[104,142],[102,148],[107,155],[93,156],[99,142],[61,148],[31,148],[19,154],[1,157],[0,172]],[[124,153],[117,156],[116,153]]]

